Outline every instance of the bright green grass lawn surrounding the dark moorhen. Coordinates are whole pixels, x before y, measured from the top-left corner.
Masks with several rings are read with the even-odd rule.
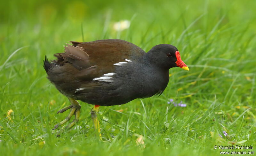
[[[4,155],[220,155],[214,145],[256,141],[255,1],[10,1],[0,16],[0,151]],[[122,32],[114,22],[128,19]],[[120,38],[145,51],[175,45],[190,71],[170,70],[159,97],[100,108],[104,142],[91,105],[56,137],[68,99],[46,79],[44,56],[68,41]],[[187,107],[167,104],[172,98]],[[12,109],[10,118],[8,111]],[[225,137],[222,131],[226,131]],[[219,134],[223,138],[219,137]],[[138,144],[142,136],[143,142]],[[253,151],[240,150],[240,151]],[[236,150],[237,151],[237,150]],[[239,150],[238,150],[239,151]]]

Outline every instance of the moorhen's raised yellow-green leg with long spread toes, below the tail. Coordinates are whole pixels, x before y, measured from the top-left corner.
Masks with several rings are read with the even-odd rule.
[[[68,126],[66,126],[67,129],[71,128],[79,121],[80,108],[81,108],[80,104],[75,99],[68,98],[68,100],[70,101],[71,105],[62,108],[57,112],[57,114],[59,114],[59,113],[63,113],[66,110],[70,109],[68,116],[64,120],[62,120],[60,123],[56,124],[52,130],[57,129],[59,126],[68,122],[68,120],[70,120],[72,115],[75,115],[75,119],[71,123],[69,123]]]

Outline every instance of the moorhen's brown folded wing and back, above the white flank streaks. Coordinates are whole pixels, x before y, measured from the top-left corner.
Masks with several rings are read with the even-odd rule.
[[[124,59],[136,59],[145,53],[138,46],[118,39],[98,40],[92,42],[71,41],[73,46],[67,44],[65,53],[55,54],[56,64],[72,64],[78,71],[76,76],[84,80],[92,80],[103,74],[113,72],[113,64]],[[75,70],[75,69],[74,69]]]

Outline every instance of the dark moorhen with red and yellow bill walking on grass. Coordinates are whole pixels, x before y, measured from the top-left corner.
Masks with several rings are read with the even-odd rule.
[[[81,106],[76,100],[81,100],[94,105],[92,120],[101,136],[97,118],[99,106],[120,105],[161,94],[168,84],[170,68],[189,70],[178,49],[170,44],[156,45],[145,53],[140,47],[118,39],[71,43],[64,46],[64,53],[54,54],[56,60],[49,62],[46,56],[44,60],[47,78],[71,103],[58,111],[63,113],[70,109],[68,116],[54,129],[72,115],[75,119],[66,128],[78,122]]]

